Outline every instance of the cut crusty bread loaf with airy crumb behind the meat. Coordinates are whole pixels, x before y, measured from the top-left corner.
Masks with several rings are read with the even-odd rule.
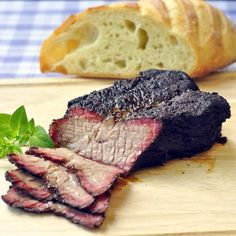
[[[236,29],[202,0],[140,0],[70,16],[43,43],[42,72],[132,78],[156,68],[203,76],[236,60]]]

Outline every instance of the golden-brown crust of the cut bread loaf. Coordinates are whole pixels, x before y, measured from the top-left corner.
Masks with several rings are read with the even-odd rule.
[[[40,52],[41,71],[70,73],[65,66],[55,67],[55,64],[58,60],[66,57],[70,50],[76,48],[76,42],[70,40],[70,47],[59,45],[58,50],[60,52],[56,53],[56,56],[50,55],[54,42],[62,34],[69,32],[73,24],[83,21],[86,16],[103,11],[110,11],[112,14],[112,12],[117,10],[135,11],[140,17],[152,20],[157,27],[161,24],[171,35],[183,38],[192,49],[195,58],[191,70],[186,71],[190,76],[205,76],[236,60],[236,29],[234,25],[220,10],[212,7],[206,1],[140,0],[138,3],[115,3],[89,8],[78,15],[70,16],[44,41]],[[65,55],[61,55],[63,54],[62,52],[65,52]],[[132,78],[137,75],[137,71],[102,73],[78,70],[75,74],[83,77]]]

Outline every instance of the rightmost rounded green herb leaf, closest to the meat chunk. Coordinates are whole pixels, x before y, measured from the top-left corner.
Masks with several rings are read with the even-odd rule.
[[[31,146],[53,147],[53,141],[42,126],[36,126],[29,139]]]

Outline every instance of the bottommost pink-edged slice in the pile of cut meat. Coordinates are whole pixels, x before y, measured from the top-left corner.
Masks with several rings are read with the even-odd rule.
[[[89,214],[81,212],[67,205],[57,202],[40,202],[39,200],[30,198],[20,193],[15,187],[8,190],[6,195],[2,196],[2,200],[12,207],[21,208],[25,211],[35,213],[54,213],[64,216],[75,224],[80,224],[88,228],[96,228],[100,226],[104,220],[104,216],[99,214]]]

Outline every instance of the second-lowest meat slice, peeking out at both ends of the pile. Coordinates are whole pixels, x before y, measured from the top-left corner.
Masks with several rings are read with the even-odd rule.
[[[49,201],[56,199],[60,202],[60,197],[56,192],[50,191],[47,188],[45,181],[40,177],[33,176],[20,169],[10,170],[6,172],[6,179],[12,183],[14,187],[24,191],[40,201]],[[91,213],[105,213],[108,208],[109,195],[107,193],[98,196],[91,206],[86,208],[86,211]]]

